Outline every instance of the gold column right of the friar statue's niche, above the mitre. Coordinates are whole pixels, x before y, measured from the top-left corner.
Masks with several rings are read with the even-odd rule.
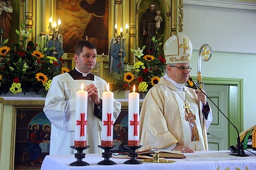
[[[171,36],[178,36],[177,28],[178,28],[178,0],[171,0]]]

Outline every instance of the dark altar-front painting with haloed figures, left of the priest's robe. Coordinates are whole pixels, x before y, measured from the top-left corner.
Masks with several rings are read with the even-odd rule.
[[[14,167],[40,166],[50,152],[51,122],[42,108],[17,109],[16,120]]]

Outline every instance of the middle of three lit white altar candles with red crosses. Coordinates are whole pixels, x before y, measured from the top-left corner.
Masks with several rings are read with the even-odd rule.
[[[113,146],[113,110],[114,110],[114,93],[107,91],[102,93],[102,147]]]

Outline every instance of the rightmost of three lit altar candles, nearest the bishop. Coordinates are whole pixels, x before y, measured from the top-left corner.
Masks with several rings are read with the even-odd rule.
[[[139,146],[139,129],[140,129],[140,95],[135,92],[135,85],[133,92],[129,93],[128,103],[128,145]]]

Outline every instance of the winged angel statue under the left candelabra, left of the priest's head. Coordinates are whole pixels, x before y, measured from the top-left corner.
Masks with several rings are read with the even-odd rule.
[[[60,36],[59,36],[60,37]],[[62,37],[62,36],[61,36]],[[55,47],[51,51],[46,51],[47,56],[55,57],[56,59],[59,59],[64,54],[62,43],[60,43],[58,39],[58,32],[54,32],[54,36],[48,41],[47,48]]]

